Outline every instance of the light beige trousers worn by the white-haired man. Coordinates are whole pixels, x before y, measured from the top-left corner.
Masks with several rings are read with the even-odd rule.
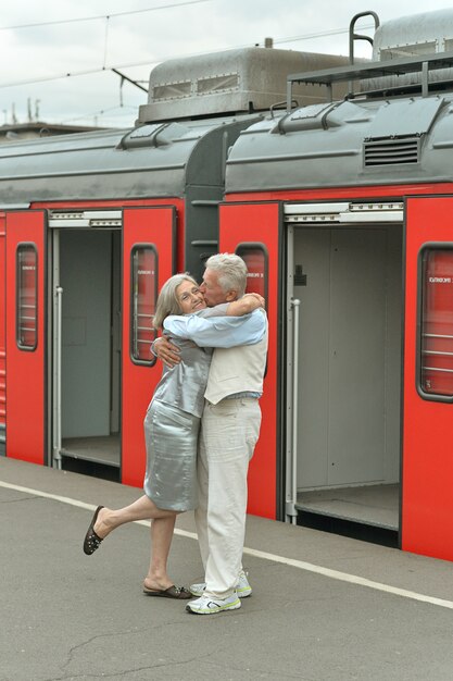
[[[205,404],[199,441],[196,522],[205,593],[211,596],[229,596],[242,569],[247,473],[260,425],[257,399]]]

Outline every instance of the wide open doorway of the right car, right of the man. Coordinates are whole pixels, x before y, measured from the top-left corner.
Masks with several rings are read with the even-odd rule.
[[[313,527],[355,523],[395,533],[402,225],[389,221],[400,211],[370,212],[357,222],[356,213],[340,207],[342,214],[337,208],[326,226],[325,208],[317,208],[312,223],[310,207],[289,216],[288,289],[299,301],[292,330],[299,340],[290,348],[297,386],[295,449],[288,467],[293,513]]]

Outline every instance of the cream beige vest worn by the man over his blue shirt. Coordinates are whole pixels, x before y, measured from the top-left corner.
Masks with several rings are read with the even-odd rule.
[[[260,343],[214,350],[204,397],[216,405],[235,393],[263,392],[267,358],[267,326]]]

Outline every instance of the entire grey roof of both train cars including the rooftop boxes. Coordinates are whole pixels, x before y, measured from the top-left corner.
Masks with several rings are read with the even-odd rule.
[[[349,66],[257,47],[165,62],[136,127],[1,145],[0,205],[221,189],[228,150],[227,193],[451,179],[453,10],[388,22],[374,49]]]

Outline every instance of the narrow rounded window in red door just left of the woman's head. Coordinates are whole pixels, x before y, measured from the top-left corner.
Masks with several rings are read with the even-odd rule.
[[[155,363],[151,343],[156,337],[152,325],[158,299],[158,253],[153,246],[133,248],[130,282],[130,357],[135,364]]]

